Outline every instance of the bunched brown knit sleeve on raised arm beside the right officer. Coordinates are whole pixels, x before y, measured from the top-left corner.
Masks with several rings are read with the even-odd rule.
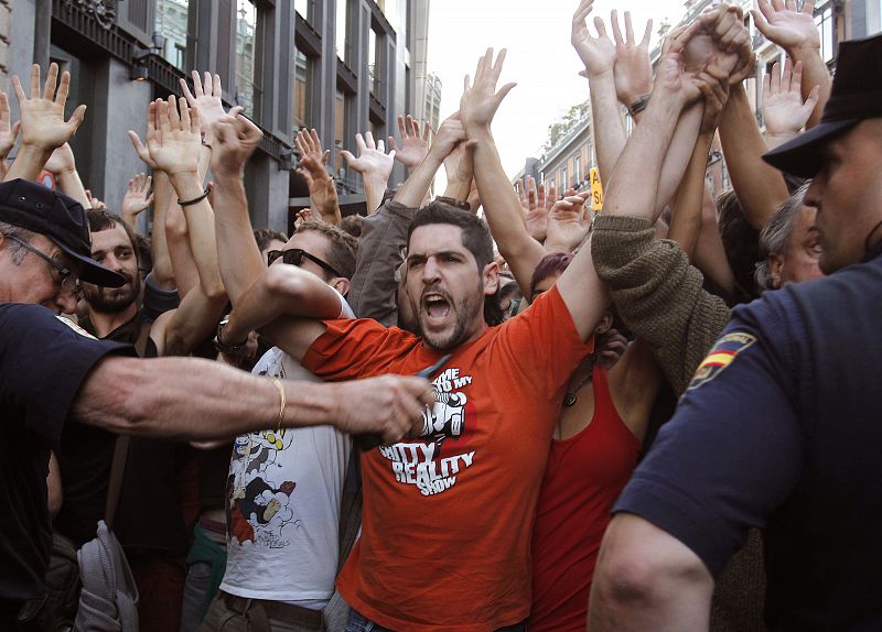
[[[650,345],[679,395],[729,322],[729,307],[702,288],[701,272],[676,241],[654,237],[646,219],[601,214],[591,252],[622,319]]]

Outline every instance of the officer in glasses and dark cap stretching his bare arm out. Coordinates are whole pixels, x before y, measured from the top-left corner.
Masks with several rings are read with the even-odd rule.
[[[75,310],[80,279],[122,285],[89,251],[78,203],[29,181],[0,184],[0,630],[15,630],[22,606],[43,593],[49,454],[65,422],[194,440],[333,424],[394,442],[433,402],[418,378],[313,384],[193,358],[129,357],[131,347],[56,316]]]

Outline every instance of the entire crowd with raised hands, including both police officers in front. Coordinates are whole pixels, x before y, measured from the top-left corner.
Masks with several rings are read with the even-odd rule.
[[[146,170],[120,209],[77,173],[69,76],[13,77],[0,629],[882,626],[882,36],[843,43],[831,79],[811,0],[759,0],[786,57],[763,132],[740,8],[667,33],[653,68],[652,24],[590,29],[592,3],[572,45],[598,214],[512,186],[504,50],[438,130],[400,117],[388,151],[343,152],[363,216],[301,130],[290,237],[251,225],[261,131],[217,75],[129,132]]]

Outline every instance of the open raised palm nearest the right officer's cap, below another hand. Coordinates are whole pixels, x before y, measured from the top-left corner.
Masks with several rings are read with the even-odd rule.
[[[808,99],[803,102],[802,83],[803,62],[796,62],[792,67],[789,57],[784,64],[784,74],[779,73],[776,62],[772,66],[772,73],[763,77],[762,111],[766,144],[777,146],[794,138],[815,110],[819,87],[815,86]]]

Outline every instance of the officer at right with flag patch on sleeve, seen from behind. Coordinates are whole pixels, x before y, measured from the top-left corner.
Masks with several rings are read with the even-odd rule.
[[[830,276],[734,310],[615,505],[594,632],[707,629],[752,526],[770,629],[882,629],[882,35],[842,43],[820,124],[764,157],[814,178]]]

